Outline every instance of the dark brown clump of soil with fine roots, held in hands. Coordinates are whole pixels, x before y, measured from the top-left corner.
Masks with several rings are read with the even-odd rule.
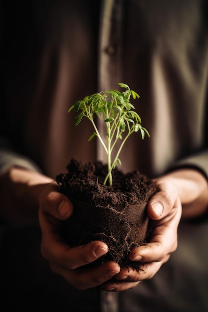
[[[67,173],[56,181],[60,192],[74,204],[73,215],[63,221],[63,235],[71,246],[93,240],[104,241],[109,252],[96,263],[115,261],[121,267],[139,269],[128,259],[136,246],[148,242],[151,229],[146,206],[156,192],[154,182],[135,170],[124,174],[115,168],[113,186],[103,185],[107,165],[101,161],[84,163],[72,158]]]

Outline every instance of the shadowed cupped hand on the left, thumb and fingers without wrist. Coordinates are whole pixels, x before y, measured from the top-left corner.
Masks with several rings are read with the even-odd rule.
[[[72,213],[72,202],[58,192],[57,184],[45,185],[39,197],[41,253],[48,260],[51,270],[73,287],[80,290],[97,287],[119,273],[120,267],[115,262],[88,265],[108,252],[104,242],[94,241],[73,248],[64,242],[61,220],[69,218]]]

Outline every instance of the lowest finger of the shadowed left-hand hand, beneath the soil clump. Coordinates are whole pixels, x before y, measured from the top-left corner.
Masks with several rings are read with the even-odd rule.
[[[106,262],[96,267],[80,267],[76,270],[68,270],[56,263],[50,263],[51,270],[61,275],[70,285],[85,290],[97,287],[119,273],[120,267],[115,262]]]

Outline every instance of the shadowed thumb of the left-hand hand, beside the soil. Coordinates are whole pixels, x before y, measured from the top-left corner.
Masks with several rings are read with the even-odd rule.
[[[66,220],[73,213],[72,202],[59,192],[55,182],[44,187],[39,198],[39,206],[40,212],[49,213],[60,220]]]

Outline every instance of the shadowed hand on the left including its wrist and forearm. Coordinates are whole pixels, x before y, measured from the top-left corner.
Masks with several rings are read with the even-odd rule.
[[[40,248],[51,270],[77,289],[93,288],[120,272],[120,267],[115,262],[95,268],[87,266],[108,252],[101,241],[76,248],[64,242],[61,221],[72,213],[72,203],[50,177],[17,167],[0,177],[0,216],[7,222],[39,221]]]

